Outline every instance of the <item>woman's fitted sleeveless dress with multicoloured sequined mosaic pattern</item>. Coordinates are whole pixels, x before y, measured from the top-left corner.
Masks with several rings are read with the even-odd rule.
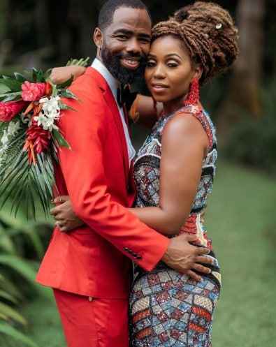
[[[221,286],[219,265],[203,226],[207,195],[212,191],[217,161],[217,140],[210,117],[203,110],[186,106],[161,117],[145,140],[134,162],[138,196],[136,207],[159,206],[161,140],[164,126],[177,113],[194,115],[208,134],[208,155],[203,160],[201,181],[189,218],[180,233],[198,236],[198,245],[210,249],[211,274],[196,282],[160,262],[151,272],[136,267],[130,297],[132,347],[210,347],[212,314]],[[183,116],[184,117],[184,116]]]

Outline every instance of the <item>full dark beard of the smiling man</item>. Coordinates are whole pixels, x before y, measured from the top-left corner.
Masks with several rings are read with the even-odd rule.
[[[136,68],[136,70],[129,70],[128,68],[122,66],[121,59],[128,58],[140,59],[140,65],[138,66],[138,68]],[[147,57],[145,54],[112,54],[112,52],[108,50],[108,47],[103,44],[103,48],[101,50],[101,59],[103,60],[103,64],[106,66],[111,75],[123,85],[133,84],[133,82],[140,79],[145,74],[145,66],[147,64]]]

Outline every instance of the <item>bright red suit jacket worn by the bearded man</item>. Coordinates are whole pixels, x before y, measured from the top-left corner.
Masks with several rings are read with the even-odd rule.
[[[80,101],[66,99],[59,128],[71,149],[59,149],[56,182],[70,195],[86,226],[56,228],[38,272],[45,286],[94,297],[126,298],[131,261],[152,270],[169,240],[126,209],[133,204],[129,157],[117,103],[94,68],[71,85]]]

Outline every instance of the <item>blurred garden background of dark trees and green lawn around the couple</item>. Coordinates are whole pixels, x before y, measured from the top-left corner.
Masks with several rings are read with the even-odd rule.
[[[145,0],[154,23],[189,0]],[[213,346],[274,347],[276,341],[276,1],[221,0],[240,29],[240,57],[204,87],[218,129],[219,167],[206,221],[224,286]],[[103,1],[0,0],[0,74],[94,57]],[[134,129],[136,147],[145,138]],[[65,347],[50,290],[34,276],[51,234],[41,215],[0,210],[0,347]],[[115,346],[119,347],[119,346]]]

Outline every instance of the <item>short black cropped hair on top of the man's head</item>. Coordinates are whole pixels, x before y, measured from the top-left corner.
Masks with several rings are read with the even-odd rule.
[[[108,0],[106,3],[103,4],[101,7],[99,18],[98,18],[98,27],[101,30],[105,30],[108,25],[112,23],[113,16],[115,13],[115,10],[117,10],[120,7],[128,7],[128,8],[139,8],[146,10],[148,15],[150,16],[150,11],[143,3],[143,1],[140,0]],[[152,17],[150,16],[150,19]]]

